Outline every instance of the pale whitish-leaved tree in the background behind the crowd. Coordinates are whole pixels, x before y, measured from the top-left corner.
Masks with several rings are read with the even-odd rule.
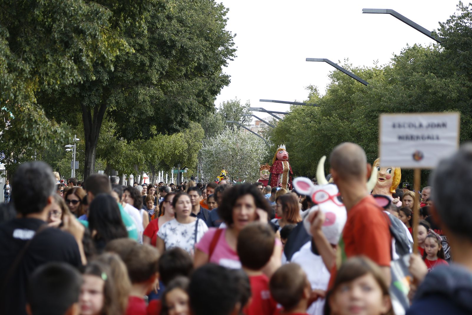
[[[267,146],[249,132],[229,128],[206,139],[201,150],[202,173],[205,180],[216,178],[225,168],[231,180],[255,182],[266,155]]]

